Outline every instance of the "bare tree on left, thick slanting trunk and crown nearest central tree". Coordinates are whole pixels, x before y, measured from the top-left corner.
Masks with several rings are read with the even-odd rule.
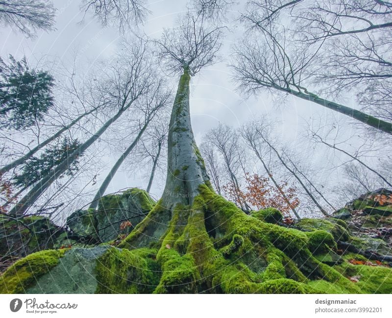
[[[68,170],[73,163],[87,148],[94,144],[107,128],[117,121],[123,113],[133,106],[134,102],[144,96],[151,85],[153,79],[152,60],[149,57],[148,46],[142,39],[137,39],[135,43],[127,43],[122,53],[112,61],[107,70],[102,70],[107,79],[102,85],[102,95],[108,100],[115,114],[112,115],[103,125],[88,139],[79,149],[72,152],[66,161],[44,176],[11,210],[13,214],[23,214],[54,182]]]

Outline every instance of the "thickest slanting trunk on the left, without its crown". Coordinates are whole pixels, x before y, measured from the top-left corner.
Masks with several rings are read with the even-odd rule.
[[[78,150],[73,151],[61,164],[56,166],[52,171],[50,171],[44,178],[42,178],[31,190],[13,207],[10,211],[12,214],[22,215],[56,180],[58,176],[63,174],[68,170],[68,167],[80,157],[88,147],[90,147],[105,131],[106,129],[115,122],[123,112],[129,108],[132,102],[129,102],[125,107],[123,107],[116,115],[103,124],[101,128],[90,137],[85,143],[83,143]]]

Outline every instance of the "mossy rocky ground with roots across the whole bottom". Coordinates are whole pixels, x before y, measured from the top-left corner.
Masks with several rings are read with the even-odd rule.
[[[201,230],[202,214],[177,211],[163,226],[167,212],[140,189],[104,196],[64,227],[2,215],[0,293],[392,293],[391,191],[295,221],[209,196]],[[214,224],[212,210],[227,221]]]

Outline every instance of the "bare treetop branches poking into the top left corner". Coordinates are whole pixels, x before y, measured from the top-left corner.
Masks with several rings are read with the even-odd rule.
[[[0,22],[33,37],[37,30],[53,30],[56,9],[49,0],[0,0]]]

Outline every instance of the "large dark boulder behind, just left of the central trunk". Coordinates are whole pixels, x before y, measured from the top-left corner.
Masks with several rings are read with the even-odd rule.
[[[75,237],[85,242],[108,242],[126,236],[155,205],[146,191],[131,188],[102,196],[97,210],[79,210],[67,218]]]

